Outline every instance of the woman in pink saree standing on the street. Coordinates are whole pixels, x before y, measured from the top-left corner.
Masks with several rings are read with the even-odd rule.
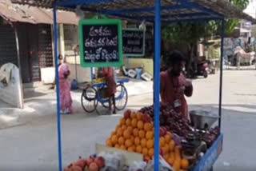
[[[58,66],[58,82],[60,92],[60,107],[62,114],[73,113],[72,98],[70,93],[70,82],[67,79],[70,75],[69,66],[63,62]]]

